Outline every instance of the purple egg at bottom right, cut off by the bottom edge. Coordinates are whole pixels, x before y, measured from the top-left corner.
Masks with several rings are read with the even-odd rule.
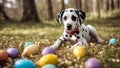
[[[101,62],[96,58],[89,58],[86,62],[86,68],[101,68]]]

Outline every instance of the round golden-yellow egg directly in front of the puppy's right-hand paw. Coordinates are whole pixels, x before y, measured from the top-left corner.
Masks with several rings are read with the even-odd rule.
[[[82,58],[84,57],[86,54],[86,49],[84,46],[76,46],[74,49],[73,49],[73,55],[77,58]]]

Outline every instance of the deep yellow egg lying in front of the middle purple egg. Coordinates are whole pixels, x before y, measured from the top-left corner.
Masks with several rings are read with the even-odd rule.
[[[58,58],[54,54],[46,54],[43,57],[40,58],[39,60],[39,65],[42,67],[46,64],[55,64],[57,65],[58,63]]]

